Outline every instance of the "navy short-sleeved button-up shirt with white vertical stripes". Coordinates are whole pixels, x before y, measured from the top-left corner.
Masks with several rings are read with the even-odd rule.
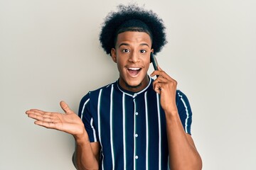
[[[90,142],[100,142],[101,169],[169,169],[166,118],[153,81],[137,93],[115,81],[82,98],[78,115]],[[176,106],[191,134],[191,107],[179,90]]]

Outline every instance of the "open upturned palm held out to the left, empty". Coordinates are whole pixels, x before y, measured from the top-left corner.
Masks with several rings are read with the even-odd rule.
[[[60,102],[60,107],[63,108],[65,114],[40,111],[38,109],[26,111],[26,114],[29,118],[36,120],[36,125],[41,125],[45,128],[60,130],[74,136],[85,133],[84,124],[78,115],[71,111],[64,101]]]

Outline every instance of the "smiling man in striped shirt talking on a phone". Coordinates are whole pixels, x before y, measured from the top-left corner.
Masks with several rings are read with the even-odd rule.
[[[36,125],[75,137],[77,169],[201,169],[191,137],[191,108],[177,82],[160,67],[147,74],[150,54],[166,44],[164,24],[135,5],[110,13],[100,42],[117,63],[119,79],[80,102],[78,115],[26,111]]]

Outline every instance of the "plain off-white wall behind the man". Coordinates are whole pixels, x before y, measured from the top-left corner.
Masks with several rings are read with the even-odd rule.
[[[0,1],[0,169],[75,169],[73,137],[25,111],[62,112],[63,100],[78,113],[87,91],[118,78],[98,35],[128,2]],[[169,43],[157,58],[190,100],[203,169],[256,169],[256,1],[137,4],[164,20]]]

